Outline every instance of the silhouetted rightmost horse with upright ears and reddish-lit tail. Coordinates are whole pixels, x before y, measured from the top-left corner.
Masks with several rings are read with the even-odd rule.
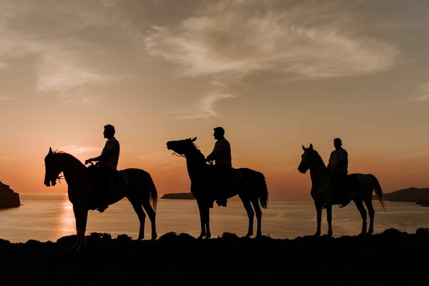
[[[328,220],[328,236],[332,236],[332,205],[338,205],[335,201],[331,189],[331,176],[325,166],[319,153],[313,149],[310,144],[308,148],[302,146],[304,153],[301,155],[301,163],[298,166],[298,171],[306,173],[310,170],[311,178],[311,197],[315,200],[317,211],[317,231],[315,235],[320,235],[320,224],[322,221],[322,207],[326,207],[326,215]],[[347,176],[348,198],[353,200],[361,213],[362,217],[362,231],[361,234],[366,233],[366,219],[367,212],[364,208],[363,202],[368,209],[369,213],[369,229],[368,233],[373,233],[374,225],[374,208],[372,207],[372,191],[374,190],[377,195],[381,207],[384,208],[383,193],[377,178],[371,174],[350,174]]]

